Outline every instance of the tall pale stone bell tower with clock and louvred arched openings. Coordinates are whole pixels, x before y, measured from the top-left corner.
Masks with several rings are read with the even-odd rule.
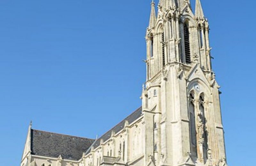
[[[144,155],[159,166],[227,165],[220,86],[201,2],[196,0],[195,12],[189,0],[160,0],[157,13],[155,7],[152,1],[141,96]]]

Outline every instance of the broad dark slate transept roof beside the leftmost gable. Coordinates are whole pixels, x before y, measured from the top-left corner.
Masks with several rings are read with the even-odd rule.
[[[32,155],[79,160],[95,140],[31,129]]]

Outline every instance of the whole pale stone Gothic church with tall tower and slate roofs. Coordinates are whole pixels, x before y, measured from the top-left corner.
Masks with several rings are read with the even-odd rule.
[[[227,166],[200,0],[151,2],[141,107],[97,139],[29,125],[20,166]],[[135,96],[136,97],[136,96]]]

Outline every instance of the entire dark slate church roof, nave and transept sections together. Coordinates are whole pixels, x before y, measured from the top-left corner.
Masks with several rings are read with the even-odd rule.
[[[53,158],[58,158],[61,155],[63,159],[77,161],[82,158],[84,152],[90,153],[92,146],[98,147],[101,139],[103,141],[108,140],[112,131],[115,133],[121,131],[125,121],[131,124],[141,116],[142,109],[140,107],[98,140],[31,129],[31,154]]]

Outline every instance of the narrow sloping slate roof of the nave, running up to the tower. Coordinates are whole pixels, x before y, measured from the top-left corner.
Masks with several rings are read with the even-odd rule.
[[[111,133],[112,131],[114,131],[115,133],[121,131],[124,128],[124,123],[127,120],[129,122],[129,124],[131,124],[132,122],[134,122],[136,119],[138,119],[139,117],[142,116],[142,107],[138,108],[137,110],[135,110],[131,115],[129,115],[128,117],[126,117],[123,121],[121,121],[119,124],[117,124],[115,127],[113,127],[112,129],[110,129],[108,132],[106,132],[105,134],[103,134],[98,140],[95,141],[95,143],[93,144],[94,148],[97,148],[100,145],[100,140],[102,139],[104,142],[108,139],[110,139],[111,137]],[[90,150],[87,151],[87,154],[90,152]]]

